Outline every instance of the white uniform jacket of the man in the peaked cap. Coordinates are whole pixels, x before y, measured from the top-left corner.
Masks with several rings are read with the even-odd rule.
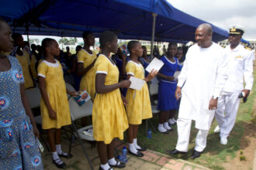
[[[225,53],[228,56],[228,80],[223,91],[251,90],[254,83],[252,74],[254,53],[240,44],[235,49],[230,49],[230,46],[227,46]],[[246,83],[245,87],[244,83]]]

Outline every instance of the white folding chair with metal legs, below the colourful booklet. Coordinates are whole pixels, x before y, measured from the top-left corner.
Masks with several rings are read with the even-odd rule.
[[[72,121],[72,127],[74,128],[74,133],[76,134],[76,136],[80,142],[81,148],[85,152],[85,156],[88,159],[88,163],[89,163],[91,169],[93,169],[92,162],[91,162],[90,158],[88,158],[88,154],[85,149],[85,146],[83,145],[83,143],[81,141],[81,139],[84,139],[87,141],[95,141],[95,139],[92,136],[86,135],[83,133],[83,131],[88,130],[89,128],[92,128],[92,125],[88,125],[86,127],[77,129],[74,124],[75,120],[80,119],[82,117],[88,117],[88,116],[92,115],[92,101],[88,100],[85,104],[82,104],[81,106],[79,106],[77,104],[77,102],[74,100],[74,98],[71,97],[68,100],[68,104],[69,104],[69,109],[71,111],[71,121]],[[72,138],[71,138],[71,140],[72,140]],[[70,143],[69,152],[71,152],[71,143]]]

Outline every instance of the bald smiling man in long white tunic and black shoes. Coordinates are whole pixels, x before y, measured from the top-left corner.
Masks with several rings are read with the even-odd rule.
[[[189,48],[178,76],[175,96],[179,99],[182,95],[177,121],[178,141],[176,148],[168,151],[170,155],[188,151],[192,120],[199,132],[191,157],[198,158],[206,148],[218,97],[227,80],[227,57],[224,49],[212,42],[212,35],[213,29],[209,24],[202,24],[196,29],[197,43]]]

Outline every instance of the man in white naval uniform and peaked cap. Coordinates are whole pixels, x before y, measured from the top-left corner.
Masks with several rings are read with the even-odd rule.
[[[228,57],[228,79],[215,112],[219,126],[214,132],[220,132],[222,145],[227,145],[227,137],[234,127],[240,104],[239,95],[242,93],[243,96],[240,97],[247,98],[254,82],[252,74],[254,53],[240,45],[244,28],[237,25],[230,26],[229,34],[230,46],[225,49]]]

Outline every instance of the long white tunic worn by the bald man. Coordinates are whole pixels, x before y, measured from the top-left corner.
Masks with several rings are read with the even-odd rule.
[[[227,56],[223,48],[214,42],[208,48],[201,48],[197,44],[191,46],[186,54],[182,72],[178,76],[177,86],[182,87],[184,84],[182,97],[187,97],[188,104],[194,109],[188,113],[180,112],[178,117],[191,117],[199,129],[209,128],[208,125],[203,125],[209,121],[206,119],[210,119],[206,117],[209,100],[213,96],[220,96],[226,80]]]

